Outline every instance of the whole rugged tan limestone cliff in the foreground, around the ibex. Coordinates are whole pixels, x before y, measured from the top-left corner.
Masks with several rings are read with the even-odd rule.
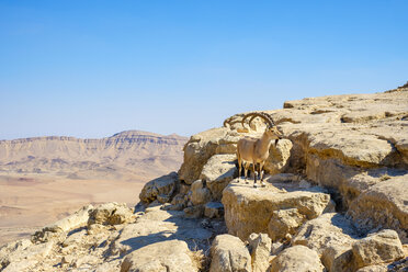
[[[407,271],[408,88],[285,102],[265,186],[236,146],[264,124],[193,135],[135,209],[83,207],[0,249],[3,271]],[[46,257],[46,258],[45,258]]]

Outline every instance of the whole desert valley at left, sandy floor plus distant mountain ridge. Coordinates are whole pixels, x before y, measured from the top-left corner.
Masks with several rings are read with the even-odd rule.
[[[179,169],[186,140],[138,131],[0,140],[0,245],[86,204],[134,206],[147,181]]]

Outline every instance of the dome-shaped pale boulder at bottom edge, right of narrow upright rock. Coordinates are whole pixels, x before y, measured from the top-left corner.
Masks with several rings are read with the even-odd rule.
[[[304,246],[294,246],[283,250],[272,260],[270,267],[271,272],[317,272],[324,269],[317,252]]]

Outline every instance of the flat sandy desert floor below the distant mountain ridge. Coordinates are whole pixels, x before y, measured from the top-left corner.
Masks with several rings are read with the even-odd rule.
[[[90,203],[120,202],[134,206],[146,181],[0,175],[0,246],[30,237]]]

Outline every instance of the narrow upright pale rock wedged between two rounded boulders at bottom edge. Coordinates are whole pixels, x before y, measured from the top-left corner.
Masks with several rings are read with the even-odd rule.
[[[272,241],[267,234],[251,234],[248,238],[253,272],[264,272],[269,268]]]

